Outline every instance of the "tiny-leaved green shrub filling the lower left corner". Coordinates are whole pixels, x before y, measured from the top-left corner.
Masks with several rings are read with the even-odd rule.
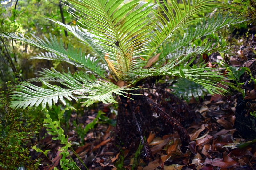
[[[33,160],[30,150],[38,142],[42,113],[39,109],[10,108],[6,96],[13,86],[8,82],[7,87],[5,91],[0,87],[0,167],[37,169],[40,159]],[[34,112],[38,115],[33,115]]]

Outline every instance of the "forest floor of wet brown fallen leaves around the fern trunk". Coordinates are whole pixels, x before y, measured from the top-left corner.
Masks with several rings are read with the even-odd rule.
[[[218,67],[215,64],[217,60],[223,60],[234,68],[240,67],[236,73],[240,79],[239,83],[244,83],[241,86],[247,92],[246,97],[243,98],[241,93],[231,90],[226,96],[206,95],[199,101],[192,98],[188,107],[195,111],[197,119],[186,125],[191,139],[188,145],[181,144],[176,131],[152,131],[146,136],[146,140],[153,157],[146,163],[141,154],[138,154],[140,149],[115,145],[115,128],[110,125],[111,123],[98,123],[84,136],[84,144],[80,146],[76,145],[76,141],[79,142],[78,132],[67,130],[68,139],[73,144],[72,148],[88,169],[256,169],[256,86],[250,75],[242,68],[249,68],[255,77],[256,37],[245,37],[241,41],[244,43],[234,46],[235,55],[227,55],[223,59],[218,53],[213,53],[207,56],[207,62],[209,67]],[[116,115],[109,105],[98,106],[86,110],[83,116],[74,112],[71,115],[69,129],[74,129],[74,120],[79,120],[84,126],[91,123],[99,110],[115,120]],[[187,118],[191,119],[189,116]],[[59,167],[61,156],[58,149],[62,145],[52,140],[50,135],[40,143],[47,146],[46,149],[51,149],[48,158],[40,155],[40,169]],[[70,155],[81,169],[86,169],[74,153],[71,152]]]

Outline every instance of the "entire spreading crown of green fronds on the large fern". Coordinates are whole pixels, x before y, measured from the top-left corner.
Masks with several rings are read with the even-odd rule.
[[[200,47],[190,46],[196,39],[243,22],[244,19],[237,15],[222,16],[214,11],[231,6],[213,0],[182,0],[181,4],[176,0],[157,0],[156,4],[140,0],[66,1],[80,26],[53,22],[88,46],[90,54],[75,49],[72,44],[64,48],[63,42],[52,35],[39,38],[33,34],[2,32],[0,36],[47,51],[33,58],[68,62],[84,71],[72,74],[43,69],[38,73],[40,78],[30,81],[40,81],[45,88],[30,81],[21,82],[11,95],[13,108],[39,104],[42,109],[47,104],[51,108],[58,100],[65,105],[65,99],[78,101],[79,98],[84,106],[97,101],[115,103],[113,94],[127,97],[126,94],[141,88],[136,87],[137,82],[151,76],[186,78],[202,85],[211,94],[227,91],[218,83],[232,86],[223,82],[224,77],[215,69],[192,65],[197,55],[228,52],[225,42],[208,41]],[[202,17],[202,11],[212,13]],[[62,86],[51,82],[60,82]]]

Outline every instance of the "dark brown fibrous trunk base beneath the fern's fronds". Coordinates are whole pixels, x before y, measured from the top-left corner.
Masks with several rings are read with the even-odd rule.
[[[144,91],[140,91],[141,93],[144,94]],[[134,100],[120,97],[116,141],[125,147],[136,149],[143,137],[148,137],[150,131],[164,135],[176,130],[182,144],[188,144],[190,138],[184,127],[192,123],[195,112],[190,110],[186,103],[162,89],[156,89],[154,94],[148,96],[130,97]]]

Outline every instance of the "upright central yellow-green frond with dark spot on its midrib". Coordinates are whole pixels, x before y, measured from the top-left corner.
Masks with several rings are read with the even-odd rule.
[[[115,61],[116,65],[121,64],[120,71],[123,74],[129,72],[134,66],[132,63],[136,61],[133,59],[138,57],[138,53],[147,50],[144,45],[150,37],[148,32],[152,30],[147,18],[152,10],[150,2],[131,12],[140,4],[139,0],[126,4],[124,0],[67,1],[85,14],[85,18],[81,17],[80,21],[97,36],[93,38],[98,40],[98,44],[106,53],[109,53],[110,59]]]

